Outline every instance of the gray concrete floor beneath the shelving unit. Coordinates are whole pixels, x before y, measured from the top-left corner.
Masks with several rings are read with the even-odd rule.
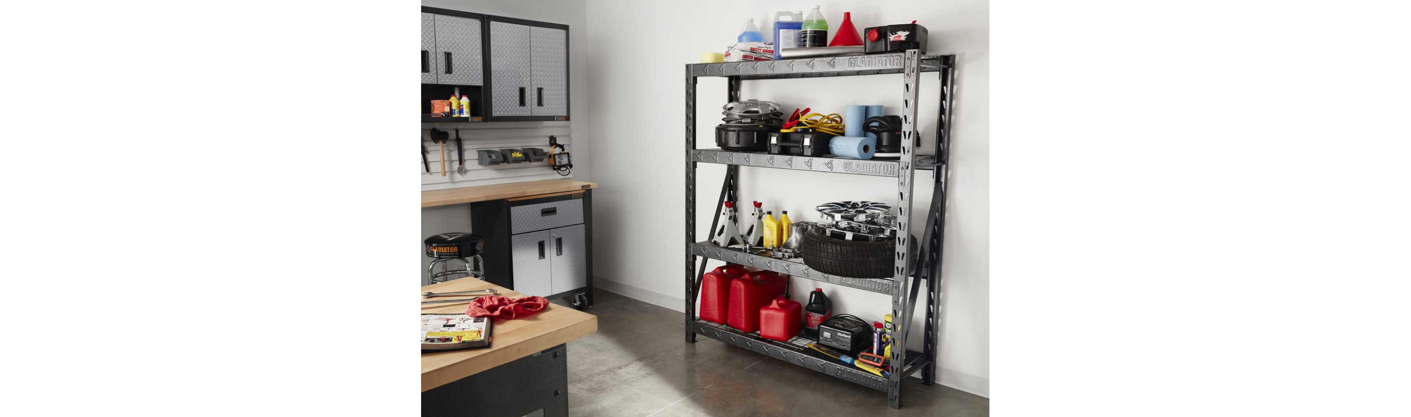
[[[557,303],[557,300],[556,300]],[[595,292],[598,332],[569,342],[569,414],[989,416],[989,399],[907,378],[886,393],[725,342],[684,341],[682,313]]]

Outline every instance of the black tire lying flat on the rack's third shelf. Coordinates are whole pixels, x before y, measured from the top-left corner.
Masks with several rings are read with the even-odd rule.
[[[916,270],[916,237],[912,237],[912,270]],[[823,228],[810,228],[799,248],[803,263],[814,270],[851,278],[892,278],[896,262],[892,255],[896,241],[855,242],[823,234]],[[909,272],[912,272],[909,270]]]

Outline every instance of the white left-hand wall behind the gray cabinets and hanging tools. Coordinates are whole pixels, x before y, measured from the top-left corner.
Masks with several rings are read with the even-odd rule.
[[[440,7],[470,13],[483,13],[523,20],[557,23],[569,25],[569,111],[570,121],[515,121],[515,123],[437,123],[422,124],[422,141],[430,151],[429,161],[432,173],[422,173],[422,190],[439,190],[453,187],[467,187],[480,185],[495,185],[509,182],[557,179],[559,176],[547,168],[525,168],[526,163],[497,165],[483,168],[474,162],[474,149],[498,149],[539,147],[549,149],[549,135],[557,137],[560,144],[573,154],[573,172],[569,178],[577,180],[591,180],[591,147],[588,145],[588,89],[587,89],[587,13],[583,0],[535,0],[535,1],[490,1],[490,0],[422,0],[422,6]],[[429,130],[461,130],[461,139],[466,147],[466,175],[447,173],[440,176],[440,154],[436,144],[430,142]],[[453,170],[456,162],[456,141],[452,134],[446,148],[446,158],[450,161],[447,169]],[[408,152],[411,155],[411,152]],[[419,158],[419,156],[418,156]],[[535,163],[538,166],[547,163]],[[408,168],[411,163],[408,163]],[[422,161],[416,161],[416,172],[423,172]],[[470,230],[470,204],[454,204],[443,207],[422,208],[422,238],[447,231]],[[418,276],[422,285],[426,280],[426,266],[432,259],[422,255],[422,245],[418,241],[418,256],[420,256]],[[411,249],[408,249],[411,251]]]

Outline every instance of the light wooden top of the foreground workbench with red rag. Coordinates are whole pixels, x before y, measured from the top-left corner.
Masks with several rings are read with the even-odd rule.
[[[461,278],[423,286],[422,292],[447,293],[483,290],[488,287],[494,287],[498,292],[498,296],[525,296],[507,287],[474,278]],[[473,296],[474,294],[442,296],[428,300],[454,300]],[[422,304],[422,314],[466,313],[466,306],[468,306],[468,303]],[[550,303],[547,310],[531,316],[529,318],[515,318],[495,323],[495,327],[490,334],[490,348],[422,354],[422,392],[476,375],[490,368],[509,363],[515,359],[529,356],[535,352],[557,347],[597,331],[597,316],[574,310],[573,307]]]

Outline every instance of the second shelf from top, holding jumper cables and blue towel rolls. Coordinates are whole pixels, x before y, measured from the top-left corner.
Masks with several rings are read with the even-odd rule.
[[[934,156],[921,155],[917,156],[917,161],[921,161],[923,158],[934,158]],[[691,151],[691,162],[799,169],[799,170],[813,170],[813,172],[855,173],[855,175],[889,176],[889,178],[896,178],[897,173],[902,172],[902,163],[897,161],[794,156],[794,155],[773,155],[773,154],[758,154],[758,152],[732,152],[722,149]]]

